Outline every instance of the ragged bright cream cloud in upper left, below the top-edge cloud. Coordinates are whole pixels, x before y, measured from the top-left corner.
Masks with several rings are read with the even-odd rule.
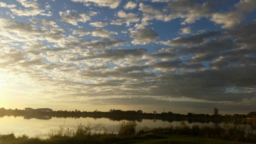
[[[62,21],[72,24],[74,26],[78,25],[78,22],[85,23],[86,21],[90,20],[90,16],[87,16],[84,13],[77,13],[75,10],[66,10],[66,12],[59,12],[60,16],[62,17]]]

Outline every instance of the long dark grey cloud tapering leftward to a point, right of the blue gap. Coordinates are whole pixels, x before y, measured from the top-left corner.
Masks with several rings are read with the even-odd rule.
[[[178,37],[178,38],[174,38],[173,40],[168,40],[167,42],[160,42],[160,43],[167,46],[176,46],[176,47],[192,46],[192,45],[200,44],[204,42],[204,38],[220,36],[220,35],[221,33],[219,31],[203,32],[200,34],[194,34],[190,37]]]

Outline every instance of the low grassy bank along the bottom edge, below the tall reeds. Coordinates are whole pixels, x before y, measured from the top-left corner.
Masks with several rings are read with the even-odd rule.
[[[15,138],[12,134],[2,135],[1,144],[248,144],[244,142],[233,142],[211,138],[199,138],[196,136],[183,136],[174,134],[142,134],[140,136],[107,136],[100,139],[62,137],[49,138],[27,138],[20,136]]]

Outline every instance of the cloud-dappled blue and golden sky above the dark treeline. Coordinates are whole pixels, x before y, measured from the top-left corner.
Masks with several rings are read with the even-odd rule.
[[[0,107],[255,105],[256,0],[0,0]]]

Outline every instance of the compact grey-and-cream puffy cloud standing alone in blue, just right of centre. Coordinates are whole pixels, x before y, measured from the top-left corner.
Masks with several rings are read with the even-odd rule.
[[[132,44],[148,44],[149,42],[155,42],[159,35],[153,28],[142,28],[139,31],[131,31],[130,37],[133,38]]]

